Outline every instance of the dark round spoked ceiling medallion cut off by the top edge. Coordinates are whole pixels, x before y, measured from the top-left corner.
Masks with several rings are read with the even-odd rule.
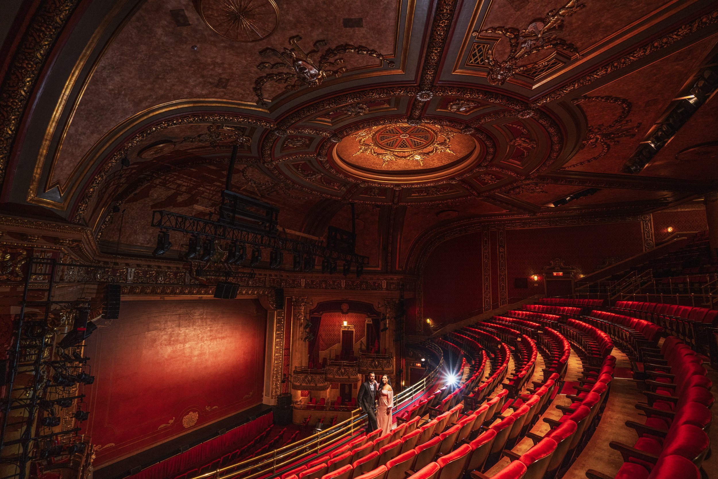
[[[279,25],[274,0],[195,0],[202,22],[213,32],[236,42],[258,42]]]

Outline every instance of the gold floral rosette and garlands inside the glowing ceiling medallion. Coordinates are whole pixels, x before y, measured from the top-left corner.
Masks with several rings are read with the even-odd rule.
[[[424,166],[424,159],[440,152],[453,153],[449,141],[454,131],[443,126],[398,124],[374,126],[353,135],[359,141],[358,154],[371,154],[388,162],[409,159]]]

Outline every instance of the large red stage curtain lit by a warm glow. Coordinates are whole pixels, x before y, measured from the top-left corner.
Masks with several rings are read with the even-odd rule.
[[[256,300],[123,301],[86,348],[95,467],[261,403],[265,334]]]

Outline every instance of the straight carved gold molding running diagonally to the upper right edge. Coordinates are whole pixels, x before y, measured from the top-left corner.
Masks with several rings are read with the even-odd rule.
[[[700,30],[710,27],[711,25],[716,23],[718,23],[718,9],[714,9],[708,14],[701,15],[701,17],[695,19],[692,22],[682,24],[680,27],[673,30],[673,32],[669,32],[667,34],[664,34],[660,38],[651,40],[645,45],[633,50],[633,52],[630,52],[628,55],[624,55],[623,57],[617,58],[609,64],[603,65],[602,67],[593,70],[591,73],[583,75],[581,78],[578,78],[577,80],[574,80],[567,85],[564,85],[561,88],[558,88],[557,90],[548,93],[547,95],[537,98],[536,101],[533,102],[533,104],[536,106],[541,106],[551,101],[556,101],[572,90],[576,90],[577,88],[581,88],[585,85],[588,85],[589,83],[593,83],[595,80],[599,80],[600,78],[603,78],[610,73],[614,73],[621,68],[625,68],[633,62],[640,60],[641,58],[648,55],[651,55],[651,53],[653,52],[657,52],[658,50],[663,50],[663,48],[670,47],[674,43],[681,41],[689,35],[694,34],[695,32],[699,32]]]

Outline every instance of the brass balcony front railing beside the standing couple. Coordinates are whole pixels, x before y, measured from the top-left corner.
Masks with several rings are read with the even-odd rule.
[[[396,404],[401,404],[403,402],[406,403],[401,407],[398,407],[396,412],[405,409],[407,406],[419,399],[419,396],[416,396],[416,394],[423,393],[426,390],[426,387],[434,381],[434,378],[436,378],[442,370],[444,358],[441,350],[438,350],[437,352],[436,348],[432,348],[430,343],[424,344],[424,347],[432,349],[434,350],[434,353],[438,354],[437,357],[439,358],[439,363],[437,364],[437,367],[424,378],[421,378],[421,380],[417,383],[409,386],[395,396],[394,401]],[[238,478],[240,476],[242,479],[253,479],[262,475],[276,473],[277,470],[284,468],[286,465],[299,462],[302,459],[307,459],[309,455],[312,455],[315,452],[320,452],[320,450],[332,444],[332,442],[339,446],[341,440],[353,436],[355,432],[358,432],[363,428],[363,422],[365,419],[366,414],[364,414],[361,409],[354,409],[351,411],[351,417],[349,419],[346,419],[345,421],[342,421],[339,424],[329,427],[321,432],[312,434],[309,437],[304,437],[302,440],[279,447],[271,452],[266,452],[263,455],[251,457],[250,459],[237,462],[236,464],[226,465],[223,468],[188,479],[230,479]]]

